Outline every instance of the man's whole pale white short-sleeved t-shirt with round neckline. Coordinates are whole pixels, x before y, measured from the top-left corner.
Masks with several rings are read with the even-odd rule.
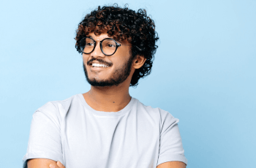
[[[178,119],[132,98],[118,112],[94,110],[82,94],[48,102],[33,114],[23,157],[61,161],[66,168],[151,168],[187,164]]]

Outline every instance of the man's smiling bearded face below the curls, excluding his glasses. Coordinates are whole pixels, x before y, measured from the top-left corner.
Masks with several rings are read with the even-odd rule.
[[[108,34],[96,36],[89,34],[96,41],[95,49],[92,53],[83,53],[83,69],[86,80],[93,86],[119,85],[127,80],[132,68],[131,46],[128,42],[118,42],[121,44],[112,56],[105,56],[100,50],[99,42],[108,37]],[[100,64],[95,66],[95,64]]]

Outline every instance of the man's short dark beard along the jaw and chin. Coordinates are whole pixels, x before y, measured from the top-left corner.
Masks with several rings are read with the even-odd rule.
[[[90,85],[93,86],[112,86],[112,85],[119,85],[123,83],[124,80],[127,80],[132,68],[132,56],[129,57],[127,64],[122,66],[123,68],[116,69],[115,72],[106,80],[96,80],[95,78],[89,79],[88,72],[86,69],[85,64],[83,64],[83,71],[86,75],[86,80]]]

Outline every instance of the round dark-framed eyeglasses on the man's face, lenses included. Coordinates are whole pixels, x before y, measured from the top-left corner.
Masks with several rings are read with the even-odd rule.
[[[102,39],[102,41],[99,42],[100,50],[102,50],[102,53],[105,56],[112,56],[114,53],[116,53],[116,50],[118,47],[121,46],[116,40],[111,38]],[[94,51],[96,47],[96,42],[91,37],[84,37],[80,40],[80,50],[82,53],[89,54]]]

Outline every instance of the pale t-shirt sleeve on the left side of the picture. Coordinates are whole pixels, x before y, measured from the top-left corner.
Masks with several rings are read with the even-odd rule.
[[[59,115],[51,102],[33,114],[23,168],[27,167],[28,159],[51,159],[63,163]]]

